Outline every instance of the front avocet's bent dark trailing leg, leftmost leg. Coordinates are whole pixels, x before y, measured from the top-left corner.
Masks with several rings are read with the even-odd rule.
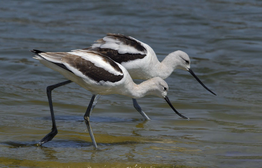
[[[48,103],[49,103],[50,112],[51,112],[52,129],[51,129],[51,132],[49,132],[43,139],[41,139],[41,141],[38,142],[38,144],[42,145],[43,143],[51,141],[54,138],[54,136],[57,134],[56,121],[54,118],[54,109],[53,109],[52,97],[51,97],[52,90],[60,86],[66,85],[68,83],[71,83],[71,82],[72,81],[68,80],[65,82],[57,83],[55,85],[47,86],[46,93],[47,93]]]

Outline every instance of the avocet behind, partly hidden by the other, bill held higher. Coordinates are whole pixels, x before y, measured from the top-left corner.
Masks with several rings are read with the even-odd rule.
[[[150,79],[156,76],[165,79],[171,75],[174,69],[183,69],[189,71],[206,90],[216,95],[190,69],[189,56],[183,51],[178,50],[170,53],[162,62],[159,62],[150,46],[130,36],[108,33],[107,36],[96,42],[84,50],[92,50],[107,55],[115,62],[123,65],[132,79]],[[100,95],[97,95],[93,106],[95,106],[99,97]],[[148,116],[141,110],[136,99],[133,99],[133,104],[137,111],[148,120]]]

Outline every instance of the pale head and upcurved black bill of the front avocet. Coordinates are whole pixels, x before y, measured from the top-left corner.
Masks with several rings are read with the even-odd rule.
[[[182,118],[188,119],[187,117],[181,115],[180,113],[178,113],[178,111],[176,111],[176,109],[173,107],[173,105],[171,104],[170,100],[167,97],[167,91],[168,91],[168,85],[167,83],[160,77],[155,77],[151,79],[152,82],[154,83],[153,85],[155,85],[155,87],[152,88],[156,88],[156,90],[154,90],[153,95],[156,95],[158,97],[161,97],[163,99],[165,99],[167,101],[167,103],[169,104],[169,106]]]

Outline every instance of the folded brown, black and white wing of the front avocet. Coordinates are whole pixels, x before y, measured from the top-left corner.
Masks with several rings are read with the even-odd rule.
[[[37,54],[34,58],[45,59],[55,65],[85,79],[97,83],[118,82],[123,78],[123,71],[116,62],[106,55],[94,51],[45,53],[31,50]],[[50,66],[49,66],[50,67]],[[52,67],[50,67],[52,68]],[[55,67],[52,68],[55,70]]]

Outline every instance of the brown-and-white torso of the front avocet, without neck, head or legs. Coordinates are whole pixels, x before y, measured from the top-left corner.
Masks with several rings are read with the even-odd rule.
[[[34,58],[41,63],[93,93],[114,94],[117,92],[113,88],[124,84],[126,70],[101,53],[81,50],[69,53],[32,52],[37,54]]]

